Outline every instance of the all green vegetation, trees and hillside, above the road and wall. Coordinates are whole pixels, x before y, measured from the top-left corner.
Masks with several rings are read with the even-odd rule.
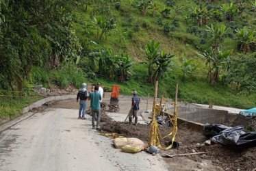
[[[179,83],[183,101],[255,107],[255,4],[0,0],[0,95],[101,81],[147,96],[158,80],[166,97]]]

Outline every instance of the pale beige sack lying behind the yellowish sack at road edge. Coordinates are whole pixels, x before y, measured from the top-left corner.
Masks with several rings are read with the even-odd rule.
[[[144,149],[144,142],[142,142],[142,140],[136,138],[136,137],[117,137],[115,140],[113,140],[114,146],[116,148],[121,148],[122,146],[125,145],[136,145],[136,146],[140,146],[142,148],[142,150]]]

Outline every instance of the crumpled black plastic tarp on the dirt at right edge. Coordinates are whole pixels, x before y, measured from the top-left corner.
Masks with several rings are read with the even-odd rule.
[[[225,145],[253,144],[256,146],[256,132],[244,132],[244,126],[227,127],[222,124],[205,124],[204,134],[215,142]]]

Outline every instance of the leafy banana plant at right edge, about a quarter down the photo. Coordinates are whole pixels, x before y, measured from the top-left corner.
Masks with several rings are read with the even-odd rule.
[[[247,51],[250,50],[250,46],[256,44],[255,31],[253,29],[248,29],[246,26],[244,26],[243,29],[236,29],[235,31],[235,36],[237,36],[239,41],[238,46],[240,47],[240,51],[247,53]]]

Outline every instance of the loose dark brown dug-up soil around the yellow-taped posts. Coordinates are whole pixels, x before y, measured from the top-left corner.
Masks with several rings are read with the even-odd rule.
[[[149,141],[149,124],[138,124],[137,126],[124,124],[123,122],[105,122],[101,129],[108,133],[118,133],[124,137],[138,137],[140,140],[147,143]],[[161,127],[159,129],[162,136],[170,133],[171,127]],[[256,168],[256,147],[248,146],[223,146],[214,144],[211,146],[203,145],[207,138],[198,131],[189,129],[185,124],[179,125],[179,142],[180,146],[175,150],[160,150],[160,155],[168,154],[183,154],[206,152],[206,155],[191,155],[188,158],[196,163],[202,163],[204,160],[210,161],[216,168],[209,170],[248,170]],[[164,142],[171,141],[171,136]],[[166,162],[172,163],[176,159],[163,158]],[[178,161],[179,162],[179,161]],[[200,169],[199,165],[199,169]]]

